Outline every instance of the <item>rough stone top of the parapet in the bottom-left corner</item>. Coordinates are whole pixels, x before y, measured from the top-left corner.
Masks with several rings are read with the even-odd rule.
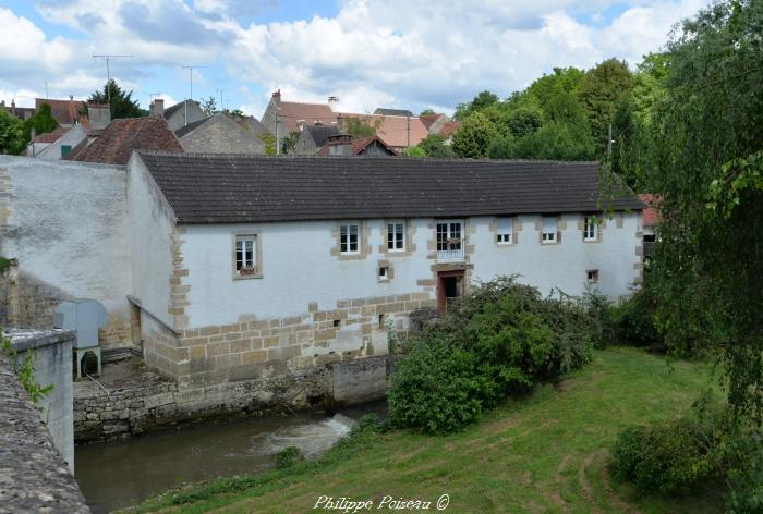
[[[0,405],[0,512],[90,512],[1,352]]]

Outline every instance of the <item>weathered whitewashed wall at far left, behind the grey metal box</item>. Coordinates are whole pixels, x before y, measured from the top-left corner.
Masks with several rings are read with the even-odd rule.
[[[123,167],[0,156],[0,255],[15,258],[7,325],[46,328],[61,299],[109,314],[106,347],[130,342],[126,173]]]

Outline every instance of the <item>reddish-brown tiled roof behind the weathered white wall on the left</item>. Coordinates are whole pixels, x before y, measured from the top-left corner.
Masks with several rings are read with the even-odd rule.
[[[77,149],[78,150],[78,149]],[[133,150],[183,151],[164,118],[114,120],[71,160],[126,164]]]

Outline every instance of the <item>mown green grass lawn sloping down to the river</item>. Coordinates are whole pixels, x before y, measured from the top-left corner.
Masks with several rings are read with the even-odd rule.
[[[141,512],[298,513],[319,495],[432,501],[446,512],[715,513],[714,487],[686,498],[639,494],[607,473],[608,446],[631,424],[678,416],[714,383],[710,366],[634,348],[597,351],[593,363],[555,386],[509,402],[469,430],[448,437],[393,431],[329,452],[323,462],[249,480],[234,492],[218,481],[142,504]],[[230,491],[230,489],[229,489]],[[386,510],[386,509],[385,509]],[[335,511],[341,512],[341,511]]]

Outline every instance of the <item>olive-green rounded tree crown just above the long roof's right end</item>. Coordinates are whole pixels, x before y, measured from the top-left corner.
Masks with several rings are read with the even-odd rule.
[[[591,123],[594,142],[601,154],[607,148],[609,124],[618,102],[633,88],[633,75],[626,61],[608,59],[585,72],[580,84],[580,99]]]

